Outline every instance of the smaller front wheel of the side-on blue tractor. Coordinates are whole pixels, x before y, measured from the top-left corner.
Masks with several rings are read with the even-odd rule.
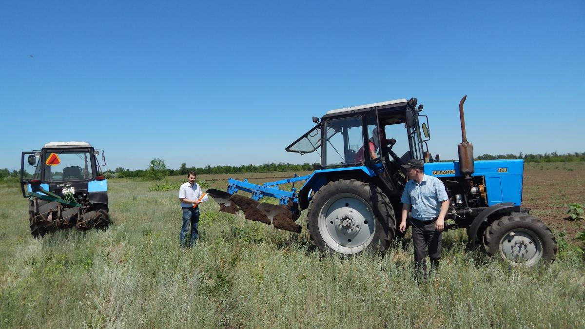
[[[512,266],[551,263],[558,249],[550,229],[538,218],[525,213],[511,213],[494,221],[486,228],[484,241],[490,256]]]

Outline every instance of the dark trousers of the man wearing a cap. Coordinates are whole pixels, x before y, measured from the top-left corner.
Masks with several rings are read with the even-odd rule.
[[[426,277],[426,252],[428,249],[431,266],[436,268],[441,260],[442,232],[435,228],[436,218],[432,221],[419,221],[412,219],[412,244],[414,245],[414,262],[417,270]]]

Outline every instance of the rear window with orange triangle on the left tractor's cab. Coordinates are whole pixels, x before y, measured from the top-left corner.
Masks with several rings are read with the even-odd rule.
[[[44,181],[88,180],[94,176],[89,152],[46,152]]]

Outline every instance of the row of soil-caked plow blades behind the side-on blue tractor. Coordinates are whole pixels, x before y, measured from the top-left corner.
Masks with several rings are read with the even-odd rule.
[[[241,210],[247,220],[273,224],[274,227],[285,231],[301,232],[301,225],[292,221],[291,211],[281,205],[259,203],[251,198],[238,194],[231,195],[216,189],[208,189],[207,194],[219,204],[219,211],[237,215]]]

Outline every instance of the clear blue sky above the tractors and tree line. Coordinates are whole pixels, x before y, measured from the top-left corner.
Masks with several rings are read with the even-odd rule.
[[[2,2],[0,168],[70,140],[106,169],[315,162],[284,150],[311,116],[410,97],[453,159],[464,94],[476,156],[585,152],[583,1],[195,3]]]

